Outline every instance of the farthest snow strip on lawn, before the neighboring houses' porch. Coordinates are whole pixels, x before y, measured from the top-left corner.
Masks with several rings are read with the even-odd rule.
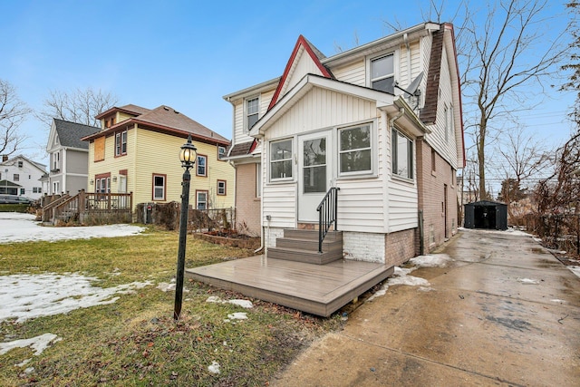
[[[43,227],[34,215],[0,212],[0,244],[27,241],[88,239],[91,237],[127,237],[140,234],[145,228],[131,225],[91,227]]]

